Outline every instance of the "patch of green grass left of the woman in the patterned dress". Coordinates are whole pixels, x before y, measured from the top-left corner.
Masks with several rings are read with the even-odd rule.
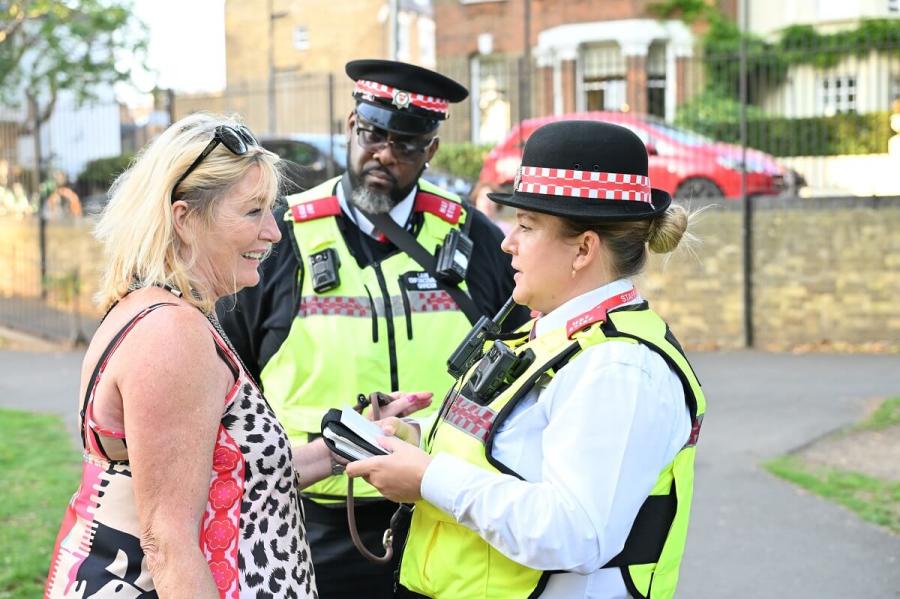
[[[0,409],[0,599],[42,595],[79,468],[61,418]]]

